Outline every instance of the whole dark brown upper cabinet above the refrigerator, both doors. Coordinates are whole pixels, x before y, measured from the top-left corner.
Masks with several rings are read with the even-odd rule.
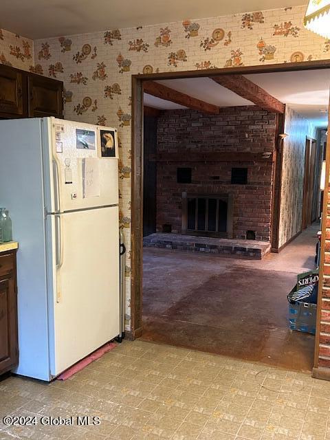
[[[63,118],[63,83],[0,65],[0,118]]]

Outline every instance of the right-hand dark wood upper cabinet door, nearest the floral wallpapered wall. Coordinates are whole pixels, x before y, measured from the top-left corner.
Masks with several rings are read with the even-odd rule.
[[[63,118],[63,83],[39,75],[29,76],[29,116]]]

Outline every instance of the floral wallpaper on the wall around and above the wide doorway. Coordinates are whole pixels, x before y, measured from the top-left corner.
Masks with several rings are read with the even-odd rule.
[[[120,221],[128,248],[131,236],[131,74],[330,58],[330,41],[303,28],[304,13],[305,6],[287,7],[34,42],[34,72],[65,83],[65,118],[119,128]],[[4,54],[12,61],[13,56],[8,52]],[[127,329],[130,272],[128,259]]]

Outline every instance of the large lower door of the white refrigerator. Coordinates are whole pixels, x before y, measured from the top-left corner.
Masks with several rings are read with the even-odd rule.
[[[50,318],[56,376],[119,334],[118,207],[48,217],[59,243]]]

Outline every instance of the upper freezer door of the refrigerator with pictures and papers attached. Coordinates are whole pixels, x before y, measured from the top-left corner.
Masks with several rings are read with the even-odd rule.
[[[101,156],[100,130],[105,127],[55,118],[45,121],[47,212],[118,204],[118,157]],[[108,130],[118,142],[116,129]]]

